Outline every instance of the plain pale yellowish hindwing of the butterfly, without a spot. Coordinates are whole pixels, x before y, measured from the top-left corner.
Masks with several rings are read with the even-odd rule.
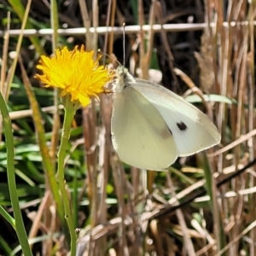
[[[177,159],[172,132],[156,108],[129,87],[113,96],[113,148],[120,160],[138,168],[161,170]]]

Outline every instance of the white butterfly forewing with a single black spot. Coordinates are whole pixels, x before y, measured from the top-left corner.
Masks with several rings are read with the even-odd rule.
[[[212,121],[182,97],[159,84],[136,79],[130,84],[158,110],[172,131],[177,154],[187,156],[211,148],[220,141],[220,134]]]

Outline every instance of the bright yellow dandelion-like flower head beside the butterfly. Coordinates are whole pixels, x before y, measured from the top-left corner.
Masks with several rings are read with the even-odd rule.
[[[37,68],[43,74],[36,74],[46,87],[61,89],[61,97],[70,96],[72,102],[82,106],[90,104],[90,98],[105,90],[104,85],[113,79],[113,73],[99,66],[99,55],[93,60],[94,51],[87,52],[84,45],[69,51],[67,47],[55,49],[55,56],[41,56]]]

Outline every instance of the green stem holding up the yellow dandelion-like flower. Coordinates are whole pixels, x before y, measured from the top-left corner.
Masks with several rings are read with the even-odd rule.
[[[58,153],[57,177],[58,177],[59,186],[61,189],[61,195],[63,199],[65,218],[67,219],[67,225],[70,232],[70,238],[71,238],[71,241],[70,241],[71,254],[70,255],[75,256],[77,236],[73,226],[73,218],[70,210],[67,190],[65,188],[66,181],[64,177],[64,160],[67,155],[67,145],[68,145],[68,139],[70,136],[70,127],[72,125],[73,116],[76,111],[76,108],[74,108],[73,103],[69,101],[66,101],[66,104],[64,104],[64,106],[65,106],[65,115],[64,115],[64,124],[63,124],[63,130],[61,135],[61,145]]]

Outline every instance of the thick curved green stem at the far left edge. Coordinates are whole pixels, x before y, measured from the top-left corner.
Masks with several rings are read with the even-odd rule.
[[[20,246],[23,253],[26,256],[32,256],[31,248],[28,244],[26,236],[26,230],[24,227],[23,219],[20,212],[19,198],[17,195],[17,187],[15,181],[15,143],[13,137],[13,129],[11,120],[9,118],[9,112],[3,99],[2,93],[0,93],[0,111],[3,117],[3,129],[5,132],[6,151],[7,151],[7,177],[9,186],[10,201],[15,215],[15,231],[20,241]],[[2,212],[3,213],[3,212]]]

